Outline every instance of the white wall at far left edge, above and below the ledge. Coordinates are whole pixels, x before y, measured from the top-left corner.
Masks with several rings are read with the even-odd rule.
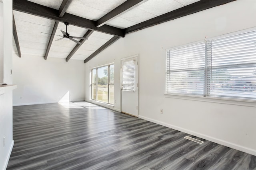
[[[0,38],[0,79],[12,84],[10,70],[12,68],[12,1],[0,0],[3,5],[1,25],[3,35]],[[3,22],[3,23],[2,23]],[[3,67],[3,68],[2,68]],[[4,142],[5,137],[5,142]],[[4,144],[5,143],[5,144]],[[0,170],[5,170],[13,147],[12,140],[12,90],[0,88]]]

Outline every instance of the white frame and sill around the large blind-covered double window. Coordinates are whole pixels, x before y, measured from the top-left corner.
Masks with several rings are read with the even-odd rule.
[[[207,54],[207,42],[211,41],[211,40],[215,40],[218,38],[225,38],[225,37],[229,37],[229,36],[235,36],[238,34],[245,34],[247,32],[252,32],[252,31],[256,31],[256,27],[254,28],[249,28],[249,29],[245,29],[245,30],[240,30],[240,31],[236,31],[236,32],[232,32],[232,33],[228,33],[228,34],[223,34],[221,36],[215,36],[212,38],[207,38],[204,40],[205,42],[205,79],[204,79],[204,95],[194,95],[194,94],[186,94],[186,93],[168,93],[167,92],[167,76],[165,78],[165,96],[168,98],[182,98],[182,99],[189,99],[189,100],[199,100],[199,101],[204,101],[204,102],[216,102],[216,103],[228,103],[228,104],[232,104],[234,103],[234,101],[236,101],[236,105],[242,105],[242,106],[255,106],[255,102],[256,102],[256,98],[246,98],[246,97],[239,97],[239,96],[210,96],[210,90],[208,89],[208,86],[210,86],[209,82],[210,79],[208,78],[208,71],[212,70],[214,68],[209,67],[208,66],[208,54]],[[166,75],[167,75],[167,60],[168,60],[168,55],[167,52],[168,50],[172,50],[175,48],[180,48],[180,47],[184,47],[184,46],[189,46],[191,44],[197,44],[200,43],[202,41],[197,41],[197,42],[192,42],[192,43],[188,43],[188,44],[184,44],[184,45],[180,45],[180,46],[176,46],[173,48],[168,48],[166,49]],[[212,56],[210,56],[212,57]],[[239,65],[238,65],[239,67]],[[207,100],[206,100],[207,98]],[[231,102],[231,103],[230,103]],[[238,102],[241,102],[241,104],[238,104]]]

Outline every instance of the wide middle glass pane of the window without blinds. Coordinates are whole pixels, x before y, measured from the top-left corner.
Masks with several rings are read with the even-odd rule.
[[[108,102],[108,66],[98,68],[98,101]]]

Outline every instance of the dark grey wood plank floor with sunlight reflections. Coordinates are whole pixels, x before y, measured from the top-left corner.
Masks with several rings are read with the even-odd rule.
[[[13,109],[7,170],[256,170],[256,156],[94,104]]]

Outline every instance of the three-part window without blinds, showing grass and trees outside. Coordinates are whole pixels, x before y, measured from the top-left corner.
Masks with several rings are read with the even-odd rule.
[[[114,104],[114,65],[92,69],[91,99]]]

